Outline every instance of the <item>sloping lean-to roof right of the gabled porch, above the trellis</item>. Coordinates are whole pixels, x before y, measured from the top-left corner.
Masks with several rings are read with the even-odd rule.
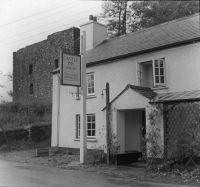
[[[154,101],[150,103],[172,103],[172,102],[192,102],[200,101],[200,90],[169,92],[158,94]]]

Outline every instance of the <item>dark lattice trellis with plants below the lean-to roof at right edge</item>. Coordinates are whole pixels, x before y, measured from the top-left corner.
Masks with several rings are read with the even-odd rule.
[[[200,105],[197,103],[179,103],[166,106],[167,155],[165,155],[166,159],[156,166],[157,171],[194,169],[200,163],[199,107]],[[153,113],[151,112],[151,115]],[[153,116],[156,116],[151,115],[150,120],[153,119]],[[169,131],[169,124],[173,129],[172,132]],[[170,135],[170,132],[172,135]]]

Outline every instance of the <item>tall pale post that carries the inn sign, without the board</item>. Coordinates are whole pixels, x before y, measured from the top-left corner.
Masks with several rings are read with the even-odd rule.
[[[82,123],[80,124],[80,163],[84,164],[87,156],[87,136],[86,136],[86,33],[81,35],[81,62],[82,62]]]

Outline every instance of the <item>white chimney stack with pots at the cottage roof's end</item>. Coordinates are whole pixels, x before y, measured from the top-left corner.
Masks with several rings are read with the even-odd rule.
[[[96,47],[107,38],[107,28],[97,22],[97,17],[89,16],[89,22],[80,25],[80,34],[86,32],[86,51]]]

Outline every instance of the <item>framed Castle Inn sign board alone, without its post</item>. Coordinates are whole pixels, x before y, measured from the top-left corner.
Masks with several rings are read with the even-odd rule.
[[[81,86],[81,57],[62,53],[62,85]]]

